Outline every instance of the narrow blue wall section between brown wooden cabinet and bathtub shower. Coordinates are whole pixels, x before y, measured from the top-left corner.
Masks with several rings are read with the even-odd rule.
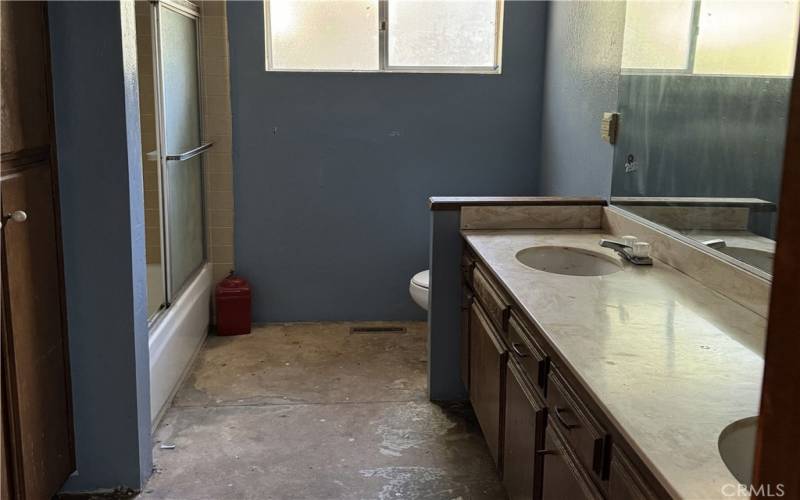
[[[80,492],[152,470],[133,2],[48,5]]]

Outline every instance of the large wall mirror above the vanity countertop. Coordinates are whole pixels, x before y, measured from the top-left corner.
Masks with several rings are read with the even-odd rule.
[[[770,277],[799,17],[629,1],[611,203]]]

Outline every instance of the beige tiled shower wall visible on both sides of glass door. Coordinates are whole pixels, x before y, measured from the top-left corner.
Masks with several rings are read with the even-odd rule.
[[[215,282],[233,269],[233,164],[228,73],[228,28],[224,1],[200,6],[204,140],[214,147],[205,155],[206,255]],[[142,154],[156,149],[156,119],[151,47],[150,3],[136,2],[139,56],[139,112]],[[161,260],[158,173],[156,162],[143,159],[145,232],[148,264]]]

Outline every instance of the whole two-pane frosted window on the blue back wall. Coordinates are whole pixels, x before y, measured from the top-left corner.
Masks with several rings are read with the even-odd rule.
[[[503,0],[264,0],[266,69],[499,73]]]

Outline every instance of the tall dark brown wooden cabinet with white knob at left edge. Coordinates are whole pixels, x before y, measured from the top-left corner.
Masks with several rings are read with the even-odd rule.
[[[47,499],[75,469],[44,2],[0,2],[2,498]]]

